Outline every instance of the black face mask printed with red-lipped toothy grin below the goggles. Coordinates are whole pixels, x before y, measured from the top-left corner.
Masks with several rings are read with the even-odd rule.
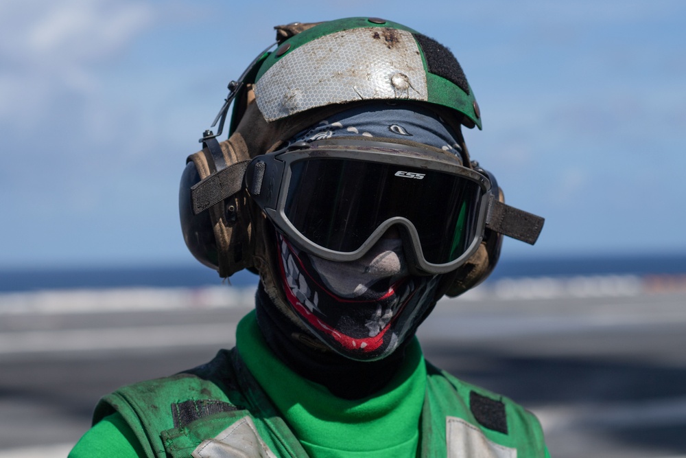
[[[312,334],[342,356],[388,356],[414,335],[434,306],[439,276],[409,275],[400,239],[381,239],[353,262],[317,258],[281,234],[276,239],[289,306]]]

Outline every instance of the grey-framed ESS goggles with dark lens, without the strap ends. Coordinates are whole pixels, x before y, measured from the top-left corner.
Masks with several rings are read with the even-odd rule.
[[[245,179],[252,199],[300,249],[356,260],[395,226],[407,260],[433,274],[453,271],[479,247],[498,202],[482,172],[429,149],[337,139],[255,157]]]

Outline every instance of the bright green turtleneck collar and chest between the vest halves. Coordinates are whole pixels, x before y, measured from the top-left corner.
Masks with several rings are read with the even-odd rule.
[[[250,313],[238,325],[237,347],[250,373],[311,457],[414,457],[426,389],[416,339],[384,389],[360,400],[333,396],[289,369],[269,350]]]

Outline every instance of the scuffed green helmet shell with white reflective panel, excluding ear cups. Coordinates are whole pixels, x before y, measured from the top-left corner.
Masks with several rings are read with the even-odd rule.
[[[276,29],[285,39],[259,56],[242,81],[254,83],[267,122],[334,104],[409,100],[449,108],[460,124],[481,128],[479,106],[458,60],[410,27],[356,17]],[[232,133],[242,109],[235,104]]]

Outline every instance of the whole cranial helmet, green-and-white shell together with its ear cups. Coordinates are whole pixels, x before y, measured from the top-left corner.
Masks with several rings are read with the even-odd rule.
[[[460,127],[482,127],[479,106],[451,52],[409,27],[376,18],[349,18],[275,27],[276,49],[263,51],[228,85],[229,95],[191,154],[180,185],[180,219],[187,247],[221,277],[248,268],[273,281],[272,222],[255,202],[259,165],[252,159],[288,146],[296,133],[351,106],[385,101],[431,108],[458,136],[462,168],[494,187],[484,203],[484,227],[469,256],[443,274],[439,297],[459,295],[493,270],[503,234],[533,243],[543,219],[504,205],[492,174],[469,159]],[[229,137],[217,141],[233,102]],[[407,148],[412,141],[375,138]],[[438,150],[438,154],[442,152]],[[250,165],[253,192],[246,187]],[[407,175],[405,176],[407,177]],[[418,178],[415,176],[415,178]],[[271,188],[270,188],[271,192]],[[266,281],[265,281],[266,279]]]

